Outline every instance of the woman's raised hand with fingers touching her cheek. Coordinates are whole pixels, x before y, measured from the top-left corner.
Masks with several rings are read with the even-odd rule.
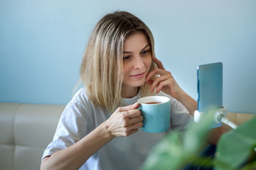
[[[172,73],[164,69],[164,66],[160,60],[158,60],[156,57],[153,57],[153,60],[156,62],[158,68],[153,69],[147,74],[146,81],[149,85],[151,85],[150,91],[157,88],[156,93],[159,93],[161,90],[173,98],[179,99],[182,95],[184,95],[184,90],[182,90],[178,83],[174,80]],[[152,76],[156,74],[160,76],[157,76],[151,80]]]

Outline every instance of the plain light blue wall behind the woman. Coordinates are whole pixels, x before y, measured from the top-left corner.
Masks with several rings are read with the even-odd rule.
[[[223,62],[223,105],[256,113],[256,1],[0,1],[0,102],[67,104],[93,26],[127,10],[196,99],[196,67]]]

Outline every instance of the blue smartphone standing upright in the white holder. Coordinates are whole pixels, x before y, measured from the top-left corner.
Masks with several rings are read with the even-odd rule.
[[[197,67],[197,108],[207,113],[222,108],[223,64],[221,62],[204,64]],[[213,122],[212,128],[222,123]]]

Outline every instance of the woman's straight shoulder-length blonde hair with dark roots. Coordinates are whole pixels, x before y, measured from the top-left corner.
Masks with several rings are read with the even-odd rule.
[[[150,29],[138,17],[126,11],[115,11],[105,15],[90,36],[80,68],[80,79],[86,94],[93,104],[114,111],[121,102],[123,82],[124,39],[136,31],[143,32],[154,56],[154,38]],[[153,69],[154,62],[150,70]],[[140,87],[147,96],[149,86]]]

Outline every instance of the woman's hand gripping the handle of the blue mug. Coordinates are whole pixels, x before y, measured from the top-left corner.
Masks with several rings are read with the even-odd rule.
[[[143,127],[143,117],[138,108],[140,104],[117,108],[111,117],[106,120],[105,125],[112,136],[130,136]]]

